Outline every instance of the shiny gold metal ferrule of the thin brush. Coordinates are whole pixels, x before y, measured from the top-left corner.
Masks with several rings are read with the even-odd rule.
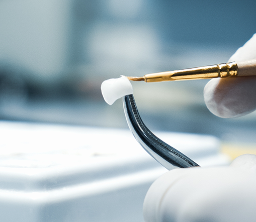
[[[145,82],[223,78],[237,76],[237,70],[236,62],[229,62],[219,65],[152,73],[144,75],[143,78]]]

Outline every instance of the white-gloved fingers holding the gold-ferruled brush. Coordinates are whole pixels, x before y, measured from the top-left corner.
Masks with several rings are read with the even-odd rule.
[[[256,59],[256,34],[228,62],[253,59]],[[204,98],[208,109],[218,117],[249,114],[256,109],[256,76],[212,79],[205,86]]]

